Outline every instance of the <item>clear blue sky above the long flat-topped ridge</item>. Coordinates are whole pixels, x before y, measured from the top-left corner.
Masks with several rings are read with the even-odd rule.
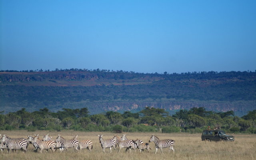
[[[0,70],[256,70],[256,1],[0,0]]]

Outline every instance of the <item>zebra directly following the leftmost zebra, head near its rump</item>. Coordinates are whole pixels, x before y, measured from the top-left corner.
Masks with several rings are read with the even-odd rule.
[[[52,152],[55,150],[55,142],[53,141],[42,141],[42,140],[39,140],[38,138],[38,135],[37,134],[34,138],[32,136],[29,136],[29,141],[32,142],[32,143],[36,143],[38,145],[38,148],[40,149],[40,153],[42,153],[42,150],[47,150],[48,149],[51,149]]]

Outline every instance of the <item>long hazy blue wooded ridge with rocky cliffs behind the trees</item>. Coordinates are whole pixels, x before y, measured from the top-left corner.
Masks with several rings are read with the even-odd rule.
[[[256,72],[188,72],[144,74],[110,70],[2,71],[0,111],[87,107],[138,112],[145,106],[180,109],[233,110],[242,116],[256,109]]]

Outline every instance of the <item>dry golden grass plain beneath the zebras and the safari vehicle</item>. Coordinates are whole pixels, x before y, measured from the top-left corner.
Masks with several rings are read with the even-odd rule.
[[[30,144],[28,146],[28,152],[26,154],[18,151],[18,153],[7,154],[7,150],[0,153],[0,160],[255,160],[256,159],[256,134],[234,134],[234,142],[204,142],[200,138],[200,134],[186,134],[186,133],[174,133],[174,134],[162,134],[162,133],[126,133],[128,139],[140,138],[144,143],[148,142],[150,136],[155,134],[160,139],[173,139],[175,140],[174,149],[175,154],[169,149],[163,149],[164,154],[158,150],[154,154],[156,148],[154,143],[149,143],[150,150],[147,152],[136,152],[132,150],[131,153],[125,152],[123,148],[121,153],[118,154],[118,149],[110,154],[109,149],[106,149],[106,153],[102,152],[98,140],[98,134],[104,134],[104,140],[112,138],[115,133],[110,132],[77,132],[77,131],[62,131],[62,132],[47,132],[47,131],[0,131],[0,134],[6,134],[12,138],[24,137],[27,135],[39,134],[42,138],[44,134],[51,135],[54,139],[60,134],[65,139],[73,138],[73,135],[78,135],[78,140],[91,140],[93,142],[92,152],[88,150],[82,150],[79,153],[74,152],[73,148],[69,148],[68,152],[60,153],[46,152],[44,150],[42,154],[33,152],[34,147]],[[122,134],[116,134],[119,137]]]

